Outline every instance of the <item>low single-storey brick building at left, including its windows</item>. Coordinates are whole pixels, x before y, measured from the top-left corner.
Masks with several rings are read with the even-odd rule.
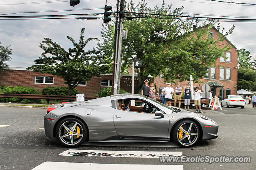
[[[88,82],[81,82],[76,89],[84,93],[85,97],[94,97],[101,88],[112,86],[112,75],[101,74],[101,77],[94,76]],[[138,92],[138,78],[134,78],[134,92]],[[28,86],[42,92],[45,87],[68,87],[61,77],[52,74],[42,74],[22,67],[9,67],[0,74],[0,85],[5,86]],[[132,91],[132,74],[121,74],[120,88],[126,92]]]

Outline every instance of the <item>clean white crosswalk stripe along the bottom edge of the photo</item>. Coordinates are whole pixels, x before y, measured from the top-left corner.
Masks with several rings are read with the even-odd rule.
[[[145,164],[90,164],[70,162],[44,162],[32,170],[183,170],[183,165]]]

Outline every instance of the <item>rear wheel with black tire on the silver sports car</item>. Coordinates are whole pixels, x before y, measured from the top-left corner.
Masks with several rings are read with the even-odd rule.
[[[68,128],[68,131],[66,128]],[[74,129],[72,130],[72,128]],[[55,133],[58,142],[61,145],[65,147],[78,147],[86,140],[88,136],[88,129],[80,119],[67,117],[58,123]]]

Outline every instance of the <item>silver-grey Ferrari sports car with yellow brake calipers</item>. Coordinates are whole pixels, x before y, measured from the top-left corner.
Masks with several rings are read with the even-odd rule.
[[[174,141],[190,147],[218,137],[218,124],[212,119],[137,94],[53,104],[44,116],[44,129],[47,137],[66,147],[85,141]]]

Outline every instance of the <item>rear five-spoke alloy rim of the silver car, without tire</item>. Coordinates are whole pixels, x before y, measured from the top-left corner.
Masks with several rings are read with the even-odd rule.
[[[66,145],[76,145],[84,135],[83,127],[76,121],[66,121],[58,130],[59,139]]]

